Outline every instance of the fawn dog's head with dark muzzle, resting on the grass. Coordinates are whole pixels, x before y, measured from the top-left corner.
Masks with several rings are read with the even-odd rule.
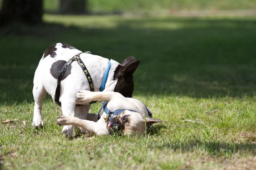
[[[135,111],[124,110],[117,116],[108,120],[107,129],[109,134],[142,135],[148,125],[162,122],[160,119],[153,119]]]

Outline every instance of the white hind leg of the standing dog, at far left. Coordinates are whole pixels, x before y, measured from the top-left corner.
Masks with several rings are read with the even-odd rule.
[[[35,105],[34,105],[34,116],[33,116],[33,123],[32,123],[32,126],[34,127],[44,126],[44,123],[41,117],[41,111],[42,111],[42,103],[46,94],[47,92],[44,88],[44,85],[41,82],[34,81],[33,96],[35,100]]]

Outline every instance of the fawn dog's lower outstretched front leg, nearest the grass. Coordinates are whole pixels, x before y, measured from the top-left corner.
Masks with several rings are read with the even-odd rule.
[[[61,126],[68,126],[68,125],[78,126],[96,135],[108,134],[106,123],[104,122],[104,120],[93,122],[89,120],[82,120],[73,116],[60,115],[56,123]]]

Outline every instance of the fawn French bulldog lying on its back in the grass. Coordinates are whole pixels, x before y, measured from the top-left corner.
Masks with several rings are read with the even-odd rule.
[[[82,120],[69,115],[60,115],[58,125],[75,125],[96,135],[121,132],[124,135],[142,135],[148,125],[162,122],[160,119],[148,117],[148,108],[139,100],[125,98],[116,92],[80,91],[76,94],[81,102],[100,100],[107,102],[102,116],[97,122]],[[95,115],[95,114],[94,114]],[[110,118],[111,117],[111,118]]]

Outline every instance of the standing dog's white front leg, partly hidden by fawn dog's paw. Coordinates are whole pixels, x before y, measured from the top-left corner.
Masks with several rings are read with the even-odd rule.
[[[66,96],[61,96],[61,110],[65,116],[75,116],[76,99],[69,99]],[[61,130],[62,133],[66,133],[67,136],[72,137],[73,126],[65,125]]]

